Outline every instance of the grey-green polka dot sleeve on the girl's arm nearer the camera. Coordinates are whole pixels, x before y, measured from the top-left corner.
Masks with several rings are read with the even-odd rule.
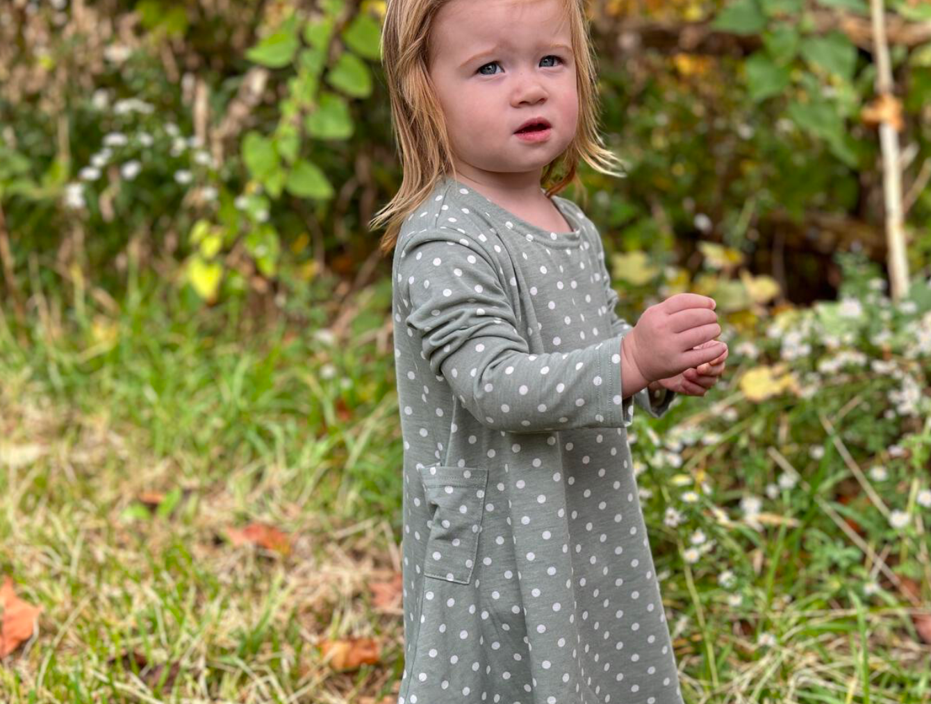
[[[499,270],[500,271],[500,270]],[[620,427],[621,336],[571,352],[530,353],[492,256],[448,228],[420,232],[398,259],[408,335],[430,370],[490,428],[542,432]]]

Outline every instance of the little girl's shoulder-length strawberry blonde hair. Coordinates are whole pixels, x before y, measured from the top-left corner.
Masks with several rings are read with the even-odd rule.
[[[388,0],[385,9],[382,62],[402,172],[398,193],[369,223],[370,229],[387,223],[380,243],[385,256],[398,242],[404,219],[423,203],[448,169],[455,178],[446,121],[428,73],[430,32],[440,8],[449,2],[452,0]],[[600,173],[624,176],[623,170],[612,169],[623,169],[623,163],[605,148],[599,134],[598,63],[588,34],[585,2],[565,0],[575,57],[579,118],[572,142],[544,169],[547,198],[573,182],[582,185],[576,175],[580,158]]]

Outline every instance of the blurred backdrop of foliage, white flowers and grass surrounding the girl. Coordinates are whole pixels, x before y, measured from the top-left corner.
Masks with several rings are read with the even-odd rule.
[[[562,194],[621,314],[703,293],[731,350],[630,433],[683,692],[927,701],[931,4],[884,3],[891,100],[867,0],[587,7],[627,178]],[[393,701],[384,12],[0,3],[0,573],[43,608],[0,698]]]

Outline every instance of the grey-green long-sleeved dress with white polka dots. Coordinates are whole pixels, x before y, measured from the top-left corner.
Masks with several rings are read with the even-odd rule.
[[[398,704],[681,704],[627,444],[617,295],[572,201],[547,232],[447,177],[405,220]]]

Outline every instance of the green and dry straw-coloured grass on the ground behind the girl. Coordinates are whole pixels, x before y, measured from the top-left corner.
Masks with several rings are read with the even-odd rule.
[[[0,575],[43,609],[0,700],[394,702],[399,595],[371,588],[400,568],[385,284],[344,303],[345,338],[300,300],[259,327],[155,281],[0,312]],[[818,375],[815,353],[792,363],[815,397],[750,403],[762,357],[735,348],[631,436],[686,700],[931,701],[929,423],[882,413],[890,375]],[[256,522],[290,551],[226,533]],[[318,646],[353,636],[379,658],[337,671]]]

